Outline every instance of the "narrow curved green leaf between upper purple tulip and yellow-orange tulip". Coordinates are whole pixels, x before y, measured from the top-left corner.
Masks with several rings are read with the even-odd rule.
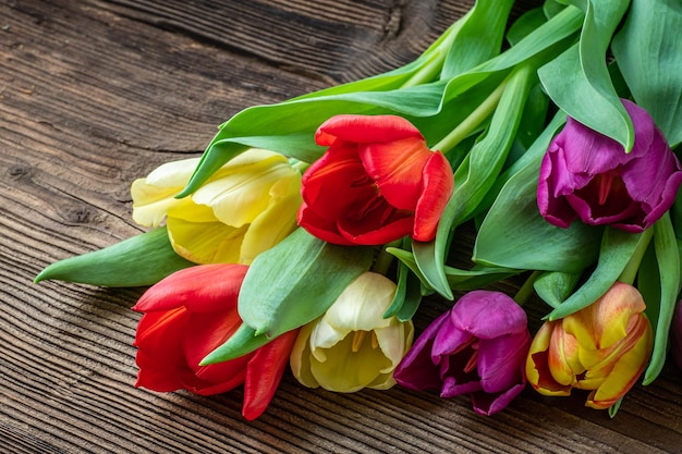
[[[597,267],[587,281],[552,310],[547,318],[557,320],[570,316],[600,298],[619,279],[636,250],[646,247],[649,238],[649,231],[629,233],[606,228]]]

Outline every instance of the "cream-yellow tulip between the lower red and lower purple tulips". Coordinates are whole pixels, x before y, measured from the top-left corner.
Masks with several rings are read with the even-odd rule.
[[[361,274],[324,316],[301,328],[290,361],[296,379],[345,393],[394,385],[393,369],[414,335],[412,321],[382,317],[395,289],[382,274]]]

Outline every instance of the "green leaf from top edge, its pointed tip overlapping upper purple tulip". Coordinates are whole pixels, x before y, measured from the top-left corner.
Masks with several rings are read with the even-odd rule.
[[[540,68],[538,75],[559,108],[630,151],[634,126],[606,64],[607,49],[628,4],[626,0],[587,1],[580,41]]]

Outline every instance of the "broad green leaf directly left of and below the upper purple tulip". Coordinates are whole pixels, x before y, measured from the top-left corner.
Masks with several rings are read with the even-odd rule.
[[[476,236],[473,259],[480,265],[525,270],[581,272],[597,259],[601,229],[573,222],[561,229],[537,208],[541,155],[502,187]]]

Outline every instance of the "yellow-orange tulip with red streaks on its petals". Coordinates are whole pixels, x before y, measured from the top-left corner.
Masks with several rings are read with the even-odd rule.
[[[544,395],[590,390],[586,406],[612,406],[634,385],[651,355],[645,307],[635,287],[617,282],[586,308],[545,322],[526,360],[528,382]]]

